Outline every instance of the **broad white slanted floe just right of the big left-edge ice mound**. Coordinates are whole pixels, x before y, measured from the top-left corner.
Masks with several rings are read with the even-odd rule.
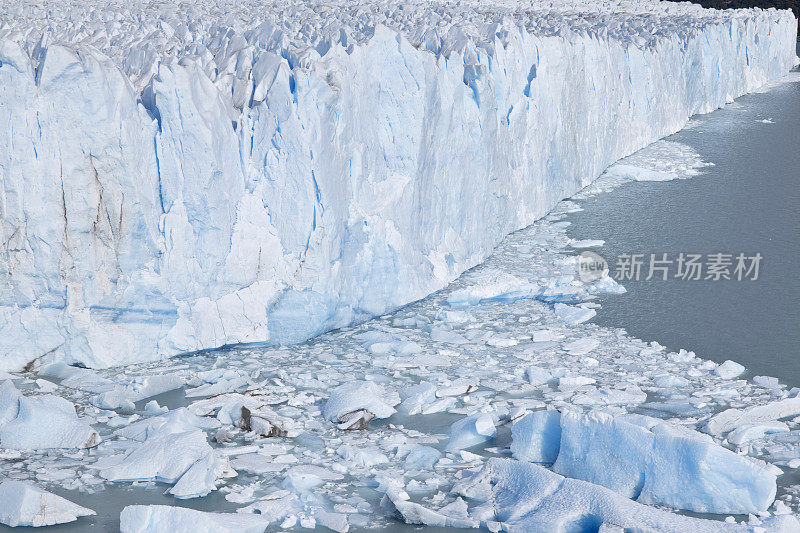
[[[175,483],[194,463],[212,453],[202,431],[156,434],[117,464],[102,468],[100,477],[109,481]]]

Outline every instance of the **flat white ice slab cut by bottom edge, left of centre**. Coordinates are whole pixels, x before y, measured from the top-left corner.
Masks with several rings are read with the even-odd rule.
[[[263,533],[269,525],[255,515],[206,513],[167,505],[129,505],[119,520],[121,533]]]

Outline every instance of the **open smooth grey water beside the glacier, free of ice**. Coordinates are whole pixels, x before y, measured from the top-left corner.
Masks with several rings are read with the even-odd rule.
[[[595,322],[800,386],[800,83],[743,96],[667,140],[714,166],[582,201],[570,236],[604,239],[612,274],[623,253],[759,252],[759,279],[623,281],[627,294],[602,298]]]

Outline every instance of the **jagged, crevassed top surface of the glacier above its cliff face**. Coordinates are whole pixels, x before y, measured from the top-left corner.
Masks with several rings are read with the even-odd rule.
[[[491,48],[511,32],[541,36],[570,32],[646,47],[687,38],[708,24],[746,18],[756,9],[704,9],[688,2],[642,0],[416,1],[349,0],[66,0],[4,2],[0,39],[20,42],[34,62],[50,44],[88,45],[111,57],[141,86],[155,65],[199,61],[212,77],[237,72],[242,51],[268,50],[292,66],[367,41],[378,26],[402,33],[414,46],[449,57],[469,55],[469,43]],[[775,10],[769,10],[779,16]],[[468,57],[465,56],[465,59]],[[246,68],[246,66],[245,66]],[[138,82],[138,83],[137,83]]]

